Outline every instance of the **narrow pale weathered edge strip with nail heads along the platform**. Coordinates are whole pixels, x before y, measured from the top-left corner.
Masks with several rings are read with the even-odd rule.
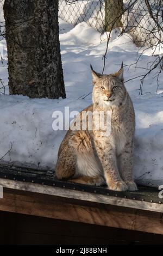
[[[77,190],[73,191],[67,188],[52,187],[47,185],[33,184],[30,182],[14,181],[7,179],[0,179],[0,185],[5,188],[12,188],[21,191],[29,191],[59,197],[73,198],[78,200],[85,200],[88,202],[124,206],[133,209],[163,212],[163,204],[141,202],[138,200],[111,197],[102,194],[82,192]]]

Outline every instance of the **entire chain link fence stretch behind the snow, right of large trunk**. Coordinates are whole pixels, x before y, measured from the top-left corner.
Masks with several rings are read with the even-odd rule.
[[[73,26],[85,21],[101,33],[119,27],[139,46],[163,40],[163,0],[59,0],[59,17]]]

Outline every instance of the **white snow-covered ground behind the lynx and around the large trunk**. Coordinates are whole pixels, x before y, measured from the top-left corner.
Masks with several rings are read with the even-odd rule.
[[[106,48],[106,35],[99,34],[85,22],[76,27],[59,20],[62,66],[66,87],[66,99],[29,99],[21,95],[0,94],[0,159],[17,164],[26,163],[53,169],[57,161],[60,142],[66,131],[53,131],[54,111],[80,111],[91,103],[92,91],[89,64],[101,72],[102,56]],[[102,41],[101,41],[102,40]],[[5,46],[5,41],[0,44]],[[4,48],[4,58],[7,52]],[[136,62],[139,57],[137,48],[128,34],[118,38],[118,32],[112,32],[106,54],[105,74],[109,74],[124,65]],[[155,52],[156,54],[156,52]],[[143,52],[137,68],[124,67],[125,81],[145,74],[147,62],[155,57],[151,50]],[[156,70],[159,71],[159,68]],[[143,84],[143,95],[139,96],[140,78],[126,84],[133,100],[136,114],[135,132],[135,168],[134,175],[140,184],[158,186],[163,184],[163,76],[156,94],[156,78],[147,76]],[[7,59],[0,66],[0,77],[8,83]],[[2,90],[3,92],[3,90]],[[85,97],[86,96],[86,97]],[[85,97],[85,99],[82,99]],[[11,147],[12,146],[12,147]]]

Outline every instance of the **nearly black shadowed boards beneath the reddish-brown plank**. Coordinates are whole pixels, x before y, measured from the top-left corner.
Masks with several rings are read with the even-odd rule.
[[[14,223],[14,224],[13,224]],[[1,245],[162,244],[162,235],[0,211]],[[12,229],[11,229],[12,228]],[[80,230],[80,231],[79,231]]]

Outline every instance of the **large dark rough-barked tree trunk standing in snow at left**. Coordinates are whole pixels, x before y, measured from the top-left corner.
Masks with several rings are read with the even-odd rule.
[[[10,94],[66,97],[58,0],[5,0]]]

